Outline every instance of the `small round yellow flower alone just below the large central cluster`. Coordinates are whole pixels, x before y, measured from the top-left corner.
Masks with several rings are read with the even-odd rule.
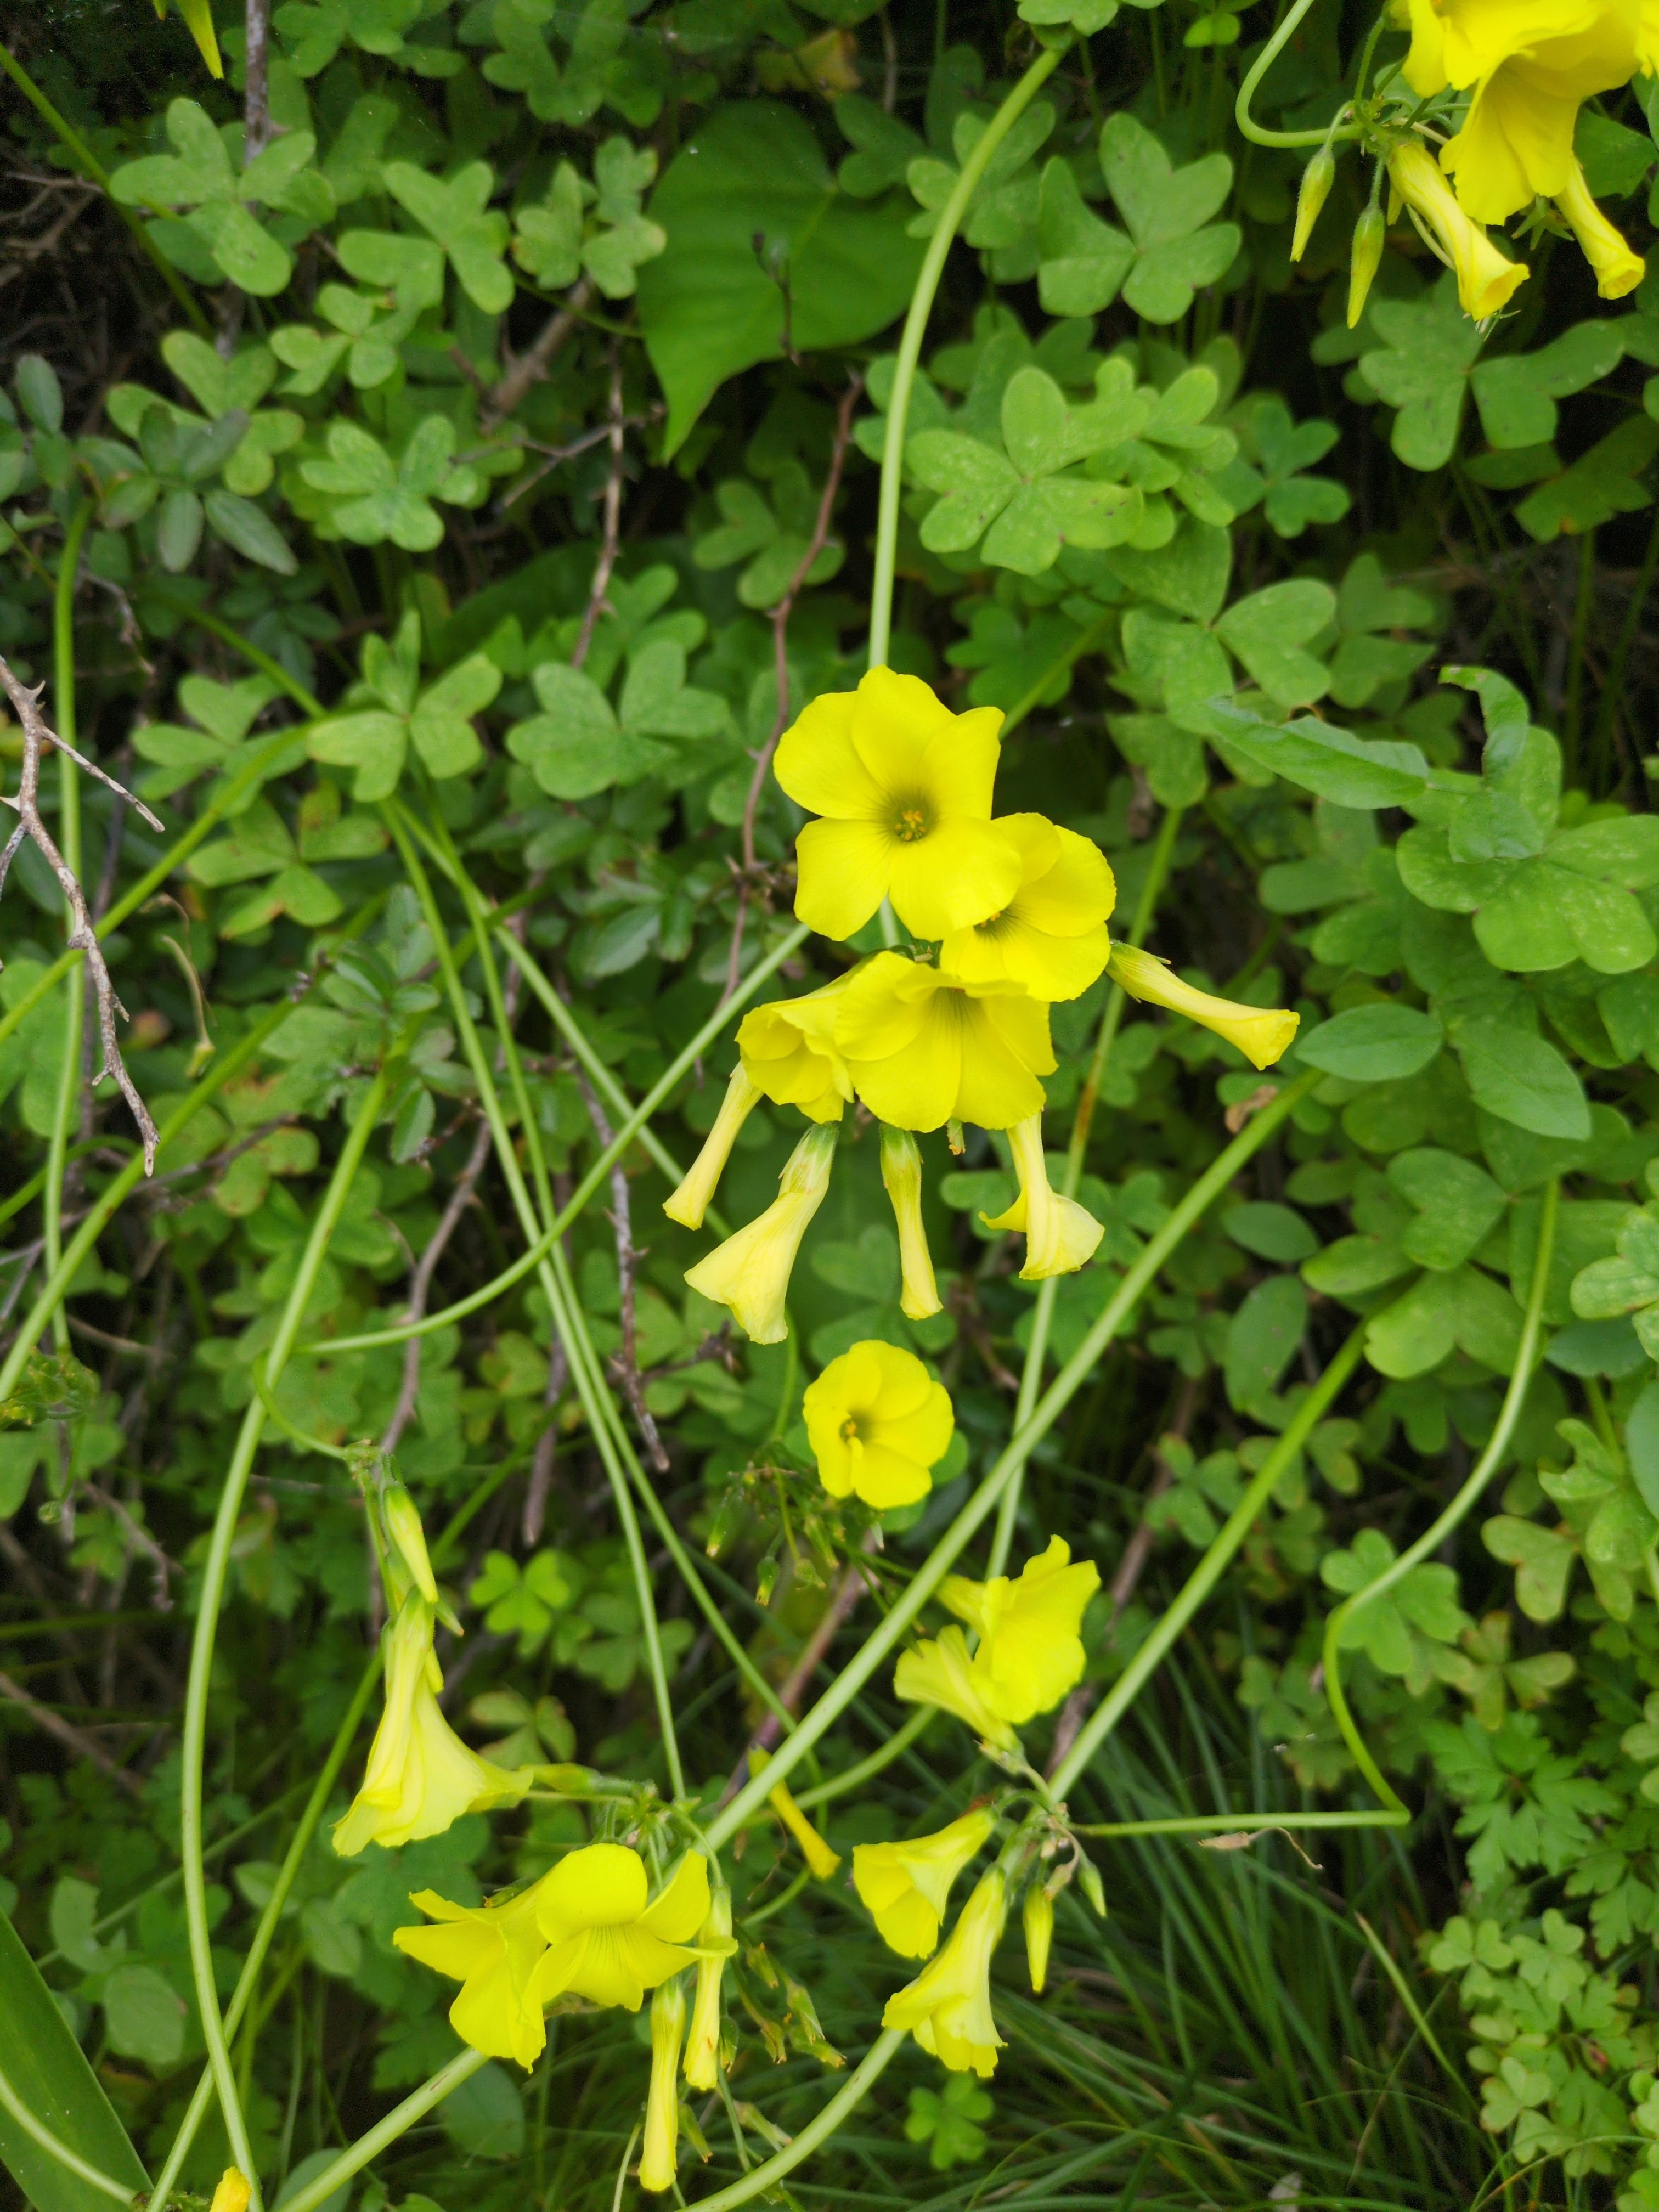
[[[914,1352],[874,1336],[807,1383],[801,1411],[830,1495],[878,1513],[927,1498],[956,1429],[945,1385]]]

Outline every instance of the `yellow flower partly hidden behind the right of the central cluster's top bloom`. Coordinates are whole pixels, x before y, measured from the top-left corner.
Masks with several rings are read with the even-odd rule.
[[[1042,814],[1004,814],[998,830],[1020,847],[1020,885],[998,914],[945,938],[940,967],[964,982],[1022,982],[1033,998],[1079,998],[1110,951],[1106,856]]]

